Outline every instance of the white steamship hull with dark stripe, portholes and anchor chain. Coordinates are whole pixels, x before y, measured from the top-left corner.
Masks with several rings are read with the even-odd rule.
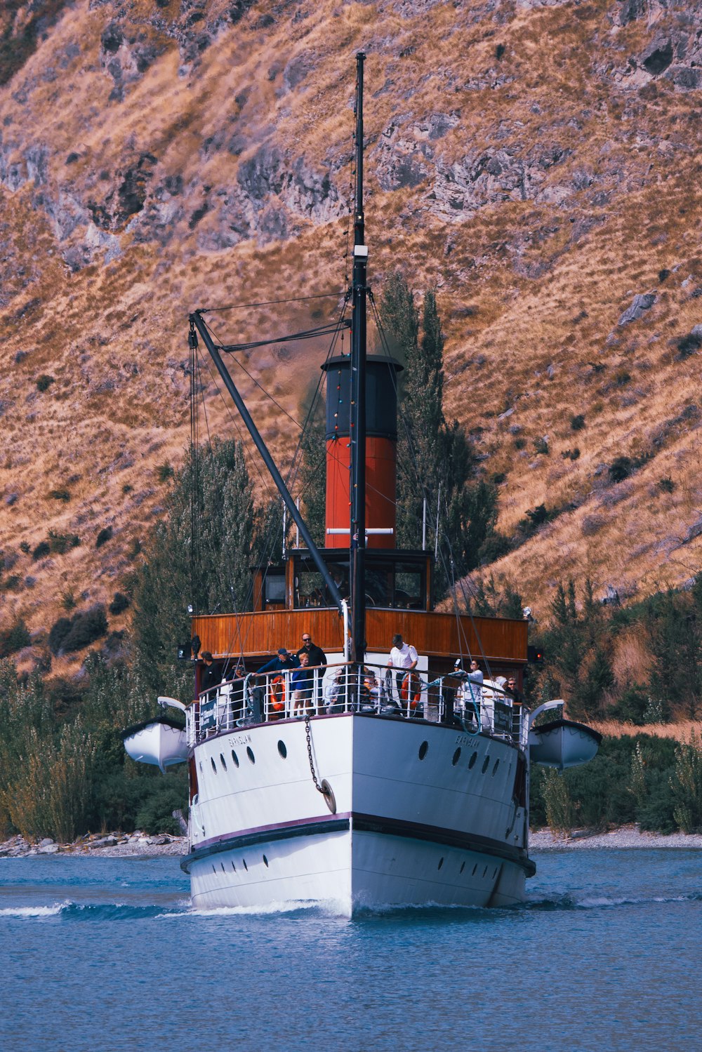
[[[194,906],[314,902],[352,915],[523,899],[533,866],[526,810],[514,792],[516,747],[401,717],[343,713],[315,719],[310,729],[315,769],[332,786],[336,813],[315,788],[302,721],[196,746],[184,863]],[[520,777],[523,801],[525,769]]]

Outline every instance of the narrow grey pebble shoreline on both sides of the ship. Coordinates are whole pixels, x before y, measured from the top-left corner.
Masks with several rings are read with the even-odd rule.
[[[531,851],[570,851],[580,848],[686,848],[702,850],[702,833],[647,833],[637,826],[623,826],[608,833],[575,829],[569,834],[557,834],[550,829],[538,829],[529,833]],[[0,858],[27,858],[37,855],[68,854],[102,858],[158,858],[180,857],[187,852],[187,837],[147,836],[144,833],[109,833],[100,836],[82,836],[73,844],[55,844],[46,837],[38,844],[31,844],[22,836],[12,836],[0,843]]]

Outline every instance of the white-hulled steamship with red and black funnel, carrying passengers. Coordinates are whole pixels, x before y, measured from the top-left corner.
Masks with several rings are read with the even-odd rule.
[[[514,706],[500,686],[509,674],[521,686],[526,621],[435,610],[433,553],[396,546],[401,366],[366,353],[363,61],[357,56],[350,353],[322,366],[324,548],[314,544],[232,380],[222,358],[230,348],[215,343],[203,312],[189,317],[190,346],[206,347],[302,542],[280,565],[254,568],[252,611],[193,618],[200,653],[230,669],[243,655],[245,673],[205,690],[196,662],[197,700],[160,699],[185,710],[185,729],[164,716],[125,739],[136,758],[162,769],[188,764],[182,867],[198,908],[321,903],[350,916],[379,907],[518,903],[535,873],[530,750],[561,768],[597,750],[597,735],[581,725],[556,720],[535,728],[535,713]],[[387,674],[397,634],[417,651],[415,668],[399,676]],[[295,641],[297,649],[303,635],[327,659],[308,670],[306,689],[296,689],[284,662],[258,672],[281,644]],[[463,671],[470,655],[489,671],[482,686]]]

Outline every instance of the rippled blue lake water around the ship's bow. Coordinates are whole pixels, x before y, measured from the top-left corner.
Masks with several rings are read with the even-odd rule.
[[[535,852],[528,902],[194,911],[177,858],[0,859],[2,1052],[702,1049],[702,852]]]

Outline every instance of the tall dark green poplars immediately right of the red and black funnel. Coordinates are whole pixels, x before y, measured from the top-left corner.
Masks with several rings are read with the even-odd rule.
[[[475,480],[476,457],[457,421],[443,410],[443,337],[436,292],[424,295],[421,318],[399,272],[385,282],[381,300],[383,328],[390,351],[404,365],[399,390],[398,546],[419,548],[423,499],[427,500],[428,535],[434,539],[439,505],[442,559],[440,587],[446,589],[479,564],[497,520],[497,488]]]

